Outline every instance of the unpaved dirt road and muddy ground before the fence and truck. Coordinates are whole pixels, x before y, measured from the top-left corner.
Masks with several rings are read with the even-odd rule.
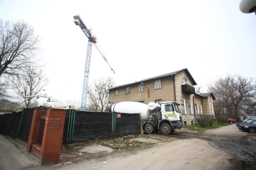
[[[118,143],[116,149],[102,145],[114,140]],[[63,147],[60,163],[26,169],[256,169],[256,134],[242,132],[235,125],[204,132],[184,129],[172,135],[159,132],[114,140]],[[140,142],[147,145],[137,147]]]

